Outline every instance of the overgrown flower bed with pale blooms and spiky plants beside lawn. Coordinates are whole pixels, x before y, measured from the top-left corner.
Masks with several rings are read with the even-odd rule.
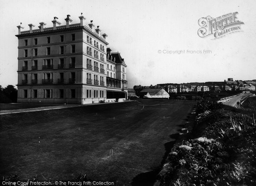
[[[255,121],[241,113],[209,109],[212,102],[199,104],[195,130],[206,124],[202,136],[183,141],[169,153],[158,184],[256,185]]]

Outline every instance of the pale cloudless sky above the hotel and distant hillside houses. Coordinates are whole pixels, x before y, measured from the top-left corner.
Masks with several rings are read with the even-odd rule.
[[[134,85],[256,79],[255,0],[0,0],[0,85],[17,84],[17,26],[65,25],[81,12],[107,33],[108,47],[127,64],[128,88]],[[213,39],[198,36],[198,20],[238,12],[242,32]],[[181,54],[167,51],[182,50]],[[189,53],[187,51],[202,51]],[[210,51],[204,54],[204,50]]]

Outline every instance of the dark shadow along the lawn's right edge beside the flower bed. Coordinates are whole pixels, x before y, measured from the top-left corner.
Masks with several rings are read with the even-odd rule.
[[[166,152],[163,156],[163,160],[161,161],[161,165],[157,168],[154,168],[151,171],[144,172],[138,174],[132,179],[131,185],[132,186],[153,186],[154,182],[157,178],[158,173],[161,171],[163,164],[166,162],[166,158],[168,154],[171,152],[173,145],[175,144],[176,139],[179,137],[179,133],[171,134],[169,137],[175,139],[173,141],[167,142],[164,144]]]

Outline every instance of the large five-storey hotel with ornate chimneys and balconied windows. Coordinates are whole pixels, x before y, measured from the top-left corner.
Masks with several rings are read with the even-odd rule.
[[[127,99],[126,64],[119,53],[107,53],[107,34],[91,20],[29,31],[18,28],[18,103],[89,104]],[[108,56],[108,57],[107,57]],[[118,56],[118,57],[117,57]],[[112,58],[112,60],[111,60]],[[119,86],[120,83],[120,86]]]

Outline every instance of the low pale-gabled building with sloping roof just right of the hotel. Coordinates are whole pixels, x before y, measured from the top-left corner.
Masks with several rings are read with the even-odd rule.
[[[169,99],[169,93],[167,93],[163,88],[152,88],[143,89],[138,94],[141,98],[167,98]]]

